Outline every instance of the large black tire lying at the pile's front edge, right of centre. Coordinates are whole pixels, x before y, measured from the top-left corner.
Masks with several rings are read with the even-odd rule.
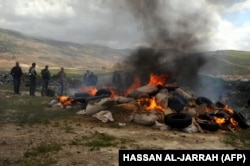
[[[192,123],[192,117],[185,113],[171,113],[165,116],[164,122],[173,128],[185,128]]]

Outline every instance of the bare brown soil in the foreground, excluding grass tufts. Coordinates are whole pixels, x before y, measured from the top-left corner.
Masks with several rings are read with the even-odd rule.
[[[54,120],[47,125],[0,123],[0,165],[25,165],[23,163],[32,160],[25,154],[41,143],[60,144],[62,148],[47,156],[37,155],[33,161],[42,162],[51,158],[56,161],[54,165],[60,166],[116,166],[119,149],[235,149],[223,143],[224,130],[192,134],[176,130],[161,131],[152,126],[126,122],[124,118],[129,113],[124,110],[119,112],[114,109],[112,113],[115,121],[108,123],[86,115]],[[119,123],[126,125],[120,126]],[[115,137],[116,144],[91,148],[83,143],[86,142],[84,138],[90,138],[96,132]]]

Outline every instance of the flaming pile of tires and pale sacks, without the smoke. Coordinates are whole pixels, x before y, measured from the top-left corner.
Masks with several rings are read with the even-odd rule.
[[[187,133],[246,129],[249,122],[240,112],[222,102],[197,97],[178,86],[145,85],[125,96],[114,96],[112,90],[99,89],[95,95],[76,93],[60,96],[48,103],[50,107],[72,108],[80,106],[77,114],[114,121],[110,108],[122,106],[128,110],[125,123],[133,122],[161,130],[178,129]],[[124,123],[122,123],[124,124]]]

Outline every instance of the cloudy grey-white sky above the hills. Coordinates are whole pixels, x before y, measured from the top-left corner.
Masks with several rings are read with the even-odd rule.
[[[149,3],[148,6],[140,3],[148,13],[157,15],[149,24],[145,24],[142,17],[149,21],[152,19],[150,14],[138,15],[136,5],[139,3],[135,1],[143,2],[0,0],[0,27],[55,40],[112,48],[152,45],[160,34],[152,39],[159,30],[155,27],[160,27],[160,30],[166,28],[167,37],[182,47],[188,47],[186,43],[193,42],[195,37],[195,45],[204,50],[250,51],[250,0],[157,0],[157,12],[150,10]],[[131,7],[132,3],[134,7]],[[142,8],[139,6],[139,9]],[[177,42],[183,41],[187,34],[192,37]]]

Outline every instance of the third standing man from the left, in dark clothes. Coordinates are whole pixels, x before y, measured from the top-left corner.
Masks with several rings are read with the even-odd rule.
[[[41,96],[48,95],[48,87],[49,87],[49,80],[50,80],[50,71],[49,66],[46,65],[44,69],[41,70],[42,75],[42,91]]]

